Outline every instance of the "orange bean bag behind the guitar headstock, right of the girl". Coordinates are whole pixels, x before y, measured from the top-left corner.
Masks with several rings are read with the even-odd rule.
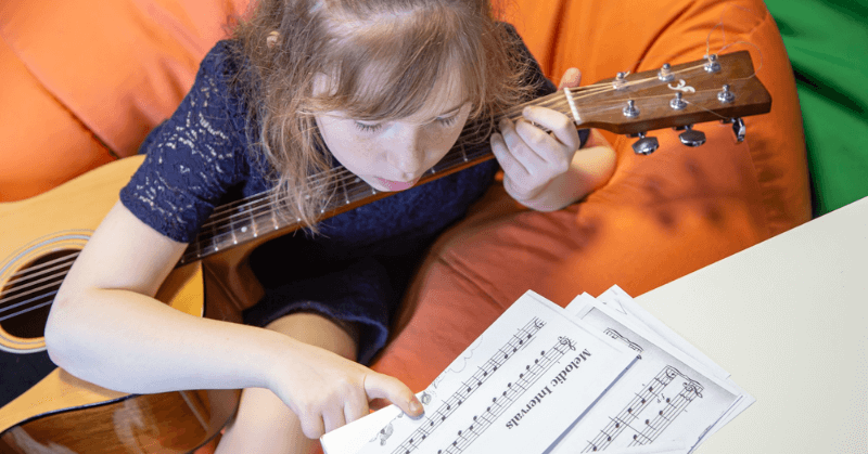
[[[654,131],[661,147],[637,156],[635,139],[608,134],[617,152],[609,183],[567,209],[519,209],[501,187],[432,248],[374,368],[414,390],[433,380],[509,304],[533,289],[559,304],[617,284],[636,296],[809,219],[795,83],[778,29],[761,0],[509,0],[510,14],[552,80],[570,66],[583,85],[621,70],[699,60],[707,46],[741,41],[773,96],[748,117],[748,139],[699,125],[707,143]],[[724,34],[725,31],[725,34]],[[761,66],[762,65],[762,66]],[[432,346],[436,346],[435,348]]]

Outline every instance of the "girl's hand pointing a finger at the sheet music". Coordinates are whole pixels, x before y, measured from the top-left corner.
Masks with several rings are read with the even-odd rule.
[[[286,361],[271,368],[270,389],[298,416],[306,437],[317,439],[367,415],[373,399],[386,399],[411,417],[422,415],[422,404],[397,378],[289,340],[294,345]]]

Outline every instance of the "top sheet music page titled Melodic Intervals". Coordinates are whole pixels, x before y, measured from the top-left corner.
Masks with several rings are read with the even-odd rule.
[[[636,361],[622,342],[528,291],[419,394],[424,416],[392,405],[327,433],[322,446],[328,454],[542,453]]]

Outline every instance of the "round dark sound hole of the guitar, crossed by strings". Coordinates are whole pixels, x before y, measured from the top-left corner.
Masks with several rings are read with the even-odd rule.
[[[54,295],[78,252],[58,250],[18,270],[0,293],[0,328],[23,339],[43,337]]]

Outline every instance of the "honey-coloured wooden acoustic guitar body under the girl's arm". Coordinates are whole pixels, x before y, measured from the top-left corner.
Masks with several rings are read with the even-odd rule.
[[[142,159],[120,159],[37,197],[0,205],[0,453],[191,452],[238,407],[239,390],[111,391],[55,367],[44,352],[53,294]],[[202,316],[203,276],[200,261],[176,268],[156,297]],[[216,310],[227,300],[219,298],[221,288],[215,287],[208,307],[219,319],[237,320],[232,310]]]

